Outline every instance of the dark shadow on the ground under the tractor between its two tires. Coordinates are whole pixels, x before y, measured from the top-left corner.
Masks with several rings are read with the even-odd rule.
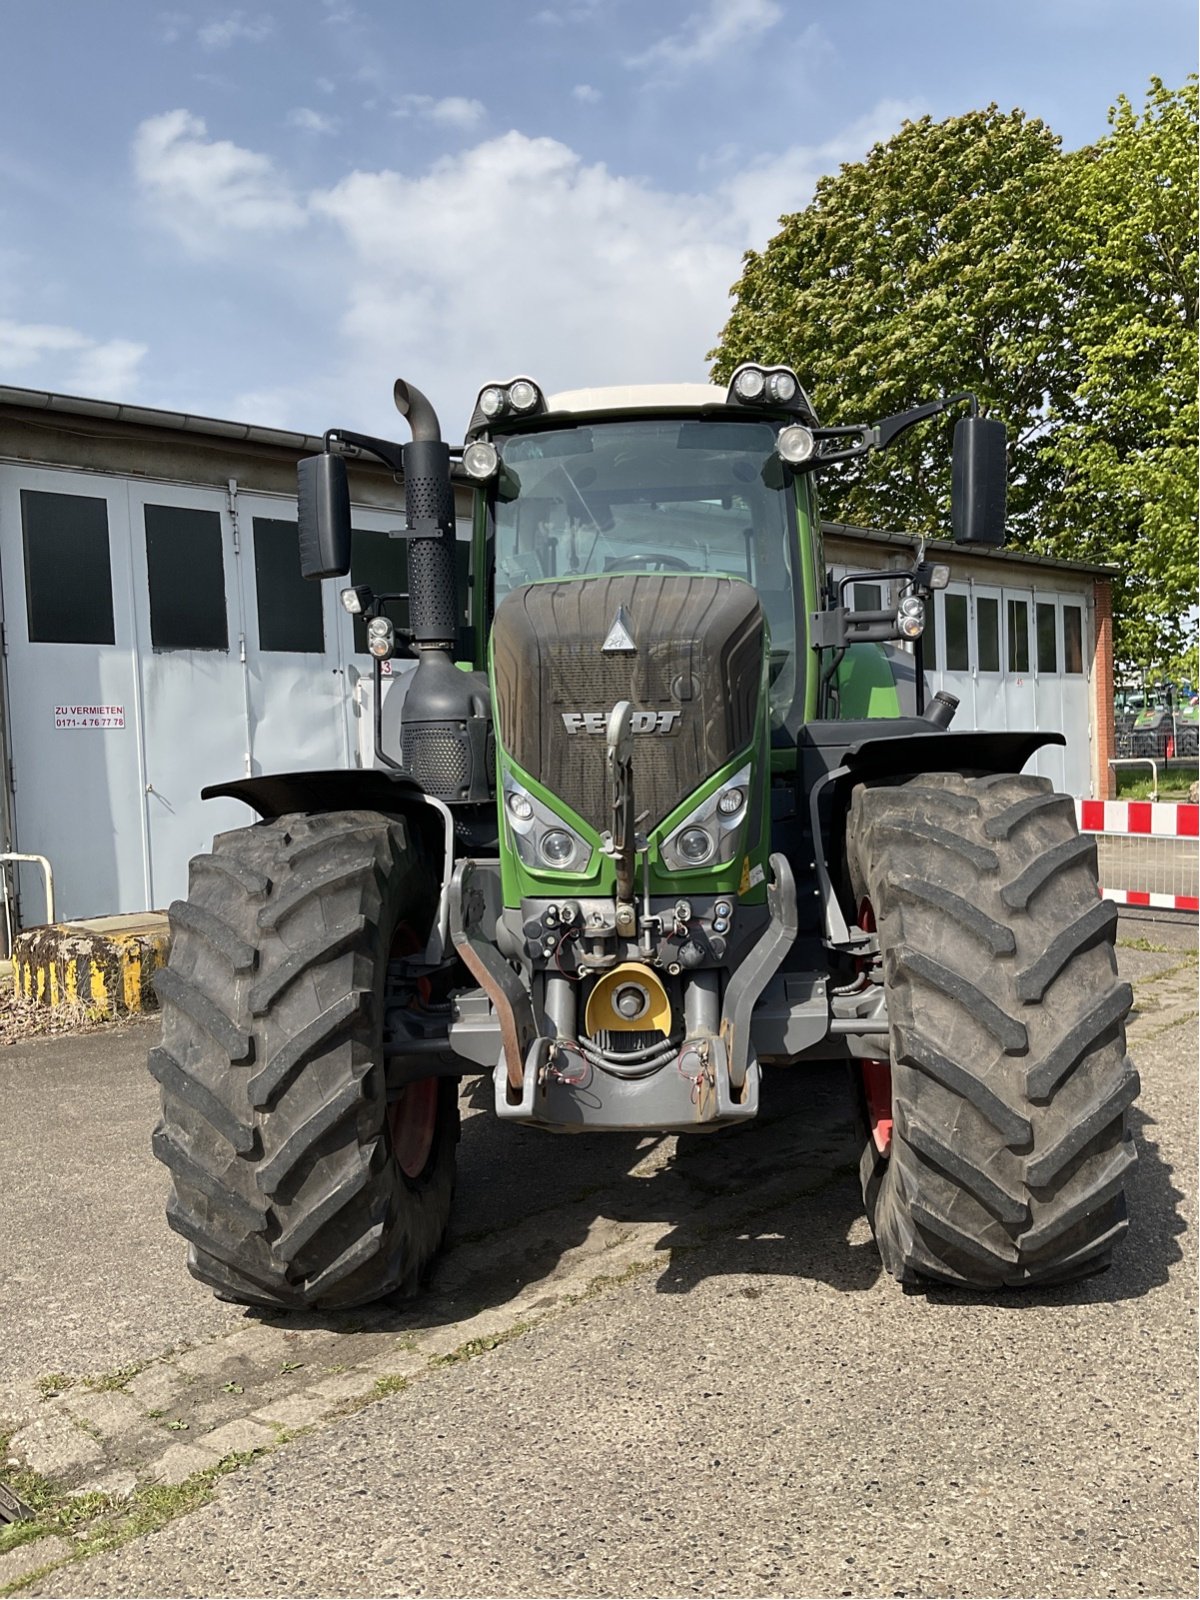
[[[662,1224],[648,1246],[659,1293],[686,1294],[722,1274],[770,1272],[840,1290],[867,1290],[880,1275],[840,1062],[771,1074],[760,1117],[744,1128],[678,1138],[512,1126],[491,1115],[491,1094],[490,1078],[464,1091],[458,1195],[430,1285],[435,1301],[467,1253],[482,1258],[469,1290],[480,1310],[542,1278],[552,1293],[563,1256],[605,1224],[618,1237],[622,1226]],[[605,1275],[602,1246],[594,1266]]]

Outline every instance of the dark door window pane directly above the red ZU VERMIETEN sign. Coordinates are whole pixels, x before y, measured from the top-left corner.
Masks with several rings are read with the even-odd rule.
[[[112,645],[106,501],[21,490],[21,528],[30,645]]]

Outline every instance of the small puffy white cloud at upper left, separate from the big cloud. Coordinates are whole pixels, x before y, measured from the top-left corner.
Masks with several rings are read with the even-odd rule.
[[[138,126],[133,170],[155,221],[200,254],[230,237],[283,232],[306,219],[269,157],[210,139],[203,120],[187,110]]]

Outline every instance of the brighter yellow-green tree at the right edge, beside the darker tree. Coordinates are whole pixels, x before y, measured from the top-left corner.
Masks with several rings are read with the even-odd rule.
[[[1062,494],[1048,547],[1120,568],[1118,654],[1195,682],[1184,621],[1197,597],[1195,77],[1179,90],[1152,78],[1142,114],[1122,98],[1109,123],[1069,157],[1080,376],[1051,446]]]

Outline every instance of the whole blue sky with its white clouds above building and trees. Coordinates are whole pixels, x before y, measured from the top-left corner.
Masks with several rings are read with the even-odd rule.
[[[699,379],[746,248],[904,117],[1067,147],[1194,0],[0,0],[0,384],[461,435],[480,384]]]

